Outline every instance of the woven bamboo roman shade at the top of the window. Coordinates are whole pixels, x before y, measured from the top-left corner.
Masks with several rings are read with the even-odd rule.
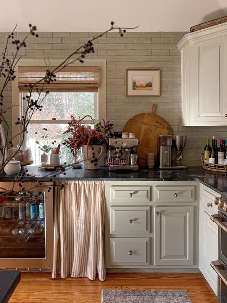
[[[48,67],[54,70],[55,67]],[[19,66],[18,88],[19,92],[27,92],[28,85],[34,84],[45,77],[46,66]],[[43,86],[43,81],[35,85],[43,91],[50,92],[97,92],[99,87],[98,66],[67,66],[56,73],[56,81]],[[25,87],[25,84],[27,87]]]

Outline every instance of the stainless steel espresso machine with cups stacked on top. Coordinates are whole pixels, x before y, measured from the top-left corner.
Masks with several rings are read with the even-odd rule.
[[[138,155],[137,138],[109,138],[108,140],[108,158],[109,170],[133,170],[137,171]]]

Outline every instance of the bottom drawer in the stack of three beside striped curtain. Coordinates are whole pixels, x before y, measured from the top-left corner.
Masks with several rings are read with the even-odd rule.
[[[111,238],[111,265],[149,265],[150,238]]]

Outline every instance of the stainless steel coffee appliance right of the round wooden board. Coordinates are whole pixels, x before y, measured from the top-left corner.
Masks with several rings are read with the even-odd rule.
[[[185,165],[181,165],[182,151],[186,144],[187,136],[159,135],[158,140],[158,167],[160,169],[186,169]],[[173,148],[176,155],[172,153]],[[174,160],[172,160],[172,158]]]

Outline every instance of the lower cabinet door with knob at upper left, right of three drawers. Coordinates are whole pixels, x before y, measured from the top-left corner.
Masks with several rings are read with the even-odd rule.
[[[193,206],[154,208],[154,265],[193,265]]]

